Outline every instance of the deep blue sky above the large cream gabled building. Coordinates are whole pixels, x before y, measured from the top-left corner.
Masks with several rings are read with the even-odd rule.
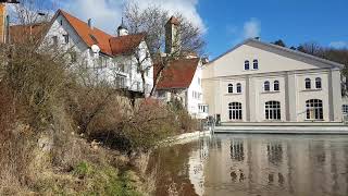
[[[243,40],[246,24],[254,24],[263,41],[348,47],[348,0],[200,0],[198,13],[211,57]]]

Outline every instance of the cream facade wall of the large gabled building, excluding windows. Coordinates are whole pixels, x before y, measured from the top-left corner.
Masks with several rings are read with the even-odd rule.
[[[302,122],[306,121],[306,101],[321,99],[324,121],[340,122],[339,70],[331,64],[316,64],[312,59],[301,58],[260,46],[243,45],[209,63],[202,72],[203,101],[209,105],[209,114],[221,114],[222,122],[227,122],[228,103],[241,102],[243,121],[263,122],[268,121],[264,105],[274,100],[281,102],[281,121]],[[254,59],[259,61],[258,70],[252,70]],[[246,60],[250,62],[250,70],[244,70]],[[311,90],[304,89],[307,77],[312,81]],[[322,79],[322,89],[315,89],[316,77]],[[265,81],[270,82],[271,91],[264,91]],[[279,82],[279,91],[273,91],[274,81]],[[228,94],[229,83],[234,85],[234,91],[236,84],[240,83],[241,94]]]

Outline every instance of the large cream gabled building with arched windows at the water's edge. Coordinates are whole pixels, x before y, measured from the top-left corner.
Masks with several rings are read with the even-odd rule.
[[[343,64],[248,39],[203,69],[203,102],[221,122],[341,122]]]

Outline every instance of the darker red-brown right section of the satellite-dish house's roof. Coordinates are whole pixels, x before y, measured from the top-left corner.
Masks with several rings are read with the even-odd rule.
[[[132,52],[134,48],[140,45],[144,38],[145,34],[135,34],[110,38],[109,41],[112,54],[127,54]]]

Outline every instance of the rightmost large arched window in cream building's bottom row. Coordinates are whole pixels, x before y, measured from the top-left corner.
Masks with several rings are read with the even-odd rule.
[[[306,101],[306,119],[323,120],[323,101],[320,99],[310,99]]]

